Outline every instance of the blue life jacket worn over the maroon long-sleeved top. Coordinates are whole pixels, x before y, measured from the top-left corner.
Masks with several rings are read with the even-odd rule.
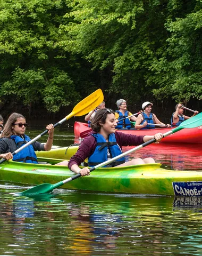
[[[92,155],[88,158],[89,166],[95,166],[107,161],[107,149],[110,151],[111,158],[122,154],[121,148],[119,147],[119,145],[117,145],[114,133],[109,135],[108,142],[105,140],[103,135],[99,133],[94,133],[91,135],[96,138],[97,144],[94,153],[92,153]],[[117,159],[110,165],[105,165],[103,167],[113,167],[123,163],[125,163],[124,157]]]

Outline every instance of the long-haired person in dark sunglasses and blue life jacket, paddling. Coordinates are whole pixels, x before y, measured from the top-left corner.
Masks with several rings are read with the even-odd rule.
[[[54,126],[49,124],[46,126],[48,130],[48,139],[45,144],[38,141],[33,142],[31,145],[22,149],[14,156],[12,153],[20,148],[22,145],[30,141],[28,135],[24,134],[26,131],[27,123],[26,118],[18,113],[13,113],[7,119],[0,141],[0,157],[7,160],[13,159],[16,162],[38,163],[35,151],[48,151],[51,150],[53,143]]]

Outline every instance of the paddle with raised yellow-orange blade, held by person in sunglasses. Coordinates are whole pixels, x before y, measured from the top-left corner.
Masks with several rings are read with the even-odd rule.
[[[68,119],[70,119],[72,116],[83,116],[86,115],[87,113],[89,113],[92,109],[96,108],[101,102],[103,102],[104,100],[104,95],[101,89],[96,90],[95,92],[91,93],[90,95],[88,95],[88,97],[86,97],[85,99],[81,100],[72,110],[72,112],[68,115],[65,116],[65,118],[63,118],[61,121],[57,122],[56,124],[54,124],[54,127],[64,123],[65,121],[67,121]],[[37,137],[35,137],[34,139],[30,140],[29,142],[27,142],[26,144],[24,144],[22,147],[20,147],[19,149],[15,150],[12,155],[14,156],[15,154],[19,153],[22,149],[26,148],[27,146],[29,146],[30,144],[32,144],[33,142],[35,142],[36,140],[40,139],[43,135],[45,135],[48,132],[48,130],[42,132],[41,134],[39,134]],[[3,162],[5,162],[6,159],[3,158],[0,161],[0,164],[2,164]]]

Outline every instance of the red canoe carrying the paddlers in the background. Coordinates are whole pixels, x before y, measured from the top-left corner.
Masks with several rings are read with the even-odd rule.
[[[166,133],[172,128],[160,128],[150,130],[117,130],[117,132],[123,132],[135,135],[154,135],[158,132]],[[75,122],[74,123],[74,135],[75,138],[85,138],[88,133],[92,131],[88,127],[87,123]],[[162,143],[202,143],[202,126],[196,128],[182,129],[179,132],[173,133],[162,139]]]

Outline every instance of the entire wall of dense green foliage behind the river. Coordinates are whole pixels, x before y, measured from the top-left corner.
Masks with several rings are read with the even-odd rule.
[[[2,106],[56,113],[98,87],[114,101],[202,99],[201,7],[200,0],[2,0]]]

